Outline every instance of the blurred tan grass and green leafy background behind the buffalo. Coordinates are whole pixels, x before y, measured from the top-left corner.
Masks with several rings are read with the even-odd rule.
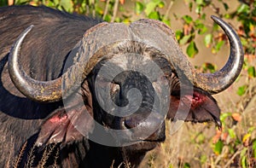
[[[213,124],[185,123],[147,154],[140,167],[256,167],[256,1],[255,0],[0,0],[0,6],[45,5],[108,22],[150,18],[176,33],[177,42],[201,72],[224,66],[230,46],[213,23],[216,15],[236,29],[245,52],[240,77],[214,95],[221,108],[222,131]],[[1,23],[0,23],[1,24]]]

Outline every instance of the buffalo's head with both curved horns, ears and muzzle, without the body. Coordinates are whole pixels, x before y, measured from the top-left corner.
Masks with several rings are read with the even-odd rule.
[[[131,160],[132,154],[143,155],[165,140],[166,118],[214,121],[220,127],[211,94],[235,81],[243,52],[236,32],[223,20],[212,20],[230,41],[229,61],[218,72],[197,72],[168,26],[138,20],[129,26],[102,22],[91,27],[71,51],[61,77],[52,81],[30,78],[19,64],[22,41],[36,31],[28,27],[9,54],[13,83],[33,101],[63,101],[44,121],[36,144],[65,145],[86,137],[121,148]]]

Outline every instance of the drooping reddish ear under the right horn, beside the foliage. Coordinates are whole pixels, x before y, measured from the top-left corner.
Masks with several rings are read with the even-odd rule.
[[[214,121],[221,127],[217,101],[206,91],[195,88],[193,95],[180,96],[179,90],[171,93],[167,119],[191,122]]]

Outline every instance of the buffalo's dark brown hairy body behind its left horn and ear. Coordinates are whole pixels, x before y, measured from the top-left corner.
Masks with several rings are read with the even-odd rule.
[[[27,26],[35,26],[21,49],[20,63],[32,78],[51,80],[61,75],[66,56],[84,32],[99,20],[46,7],[12,6],[0,8],[0,23],[0,132],[4,135],[0,137],[2,167],[13,165],[21,145],[38,132],[42,119],[62,104],[30,101],[12,84],[7,61],[9,49],[16,38]],[[32,147],[34,140],[31,143],[27,148]],[[26,158],[25,154],[23,156]]]

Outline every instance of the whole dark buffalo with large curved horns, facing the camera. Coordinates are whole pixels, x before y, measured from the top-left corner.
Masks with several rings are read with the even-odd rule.
[[[195,70],[158,20],[107,23],[47,7],[0,8],[1,167],[137,167],[165,141],[165,119],[214,122],[211,96],[243,64],[236,32],[218,17],[230,57]]]

